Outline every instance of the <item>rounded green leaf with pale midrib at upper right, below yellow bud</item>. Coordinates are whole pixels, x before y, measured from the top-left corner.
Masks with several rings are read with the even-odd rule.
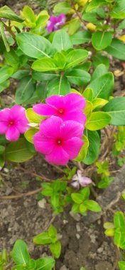
[[[97,31],[92,35],[92,45],[96,50],[104,50],[112,43],[112,33]]]

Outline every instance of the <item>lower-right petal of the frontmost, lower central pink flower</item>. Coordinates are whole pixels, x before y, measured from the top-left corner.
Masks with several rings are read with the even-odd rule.
[[[80,138],[72,138],[64,141],[62,148],[67,152],[70,159],[74,159],[77,157],[83,144],[84,142]]]

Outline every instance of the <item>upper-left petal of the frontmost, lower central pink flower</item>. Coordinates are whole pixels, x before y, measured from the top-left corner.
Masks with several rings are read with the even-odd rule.
[[[63,121],[60,117],[50,117],[40,124],[40,134],[48,138],[60,137],[60,126]]]

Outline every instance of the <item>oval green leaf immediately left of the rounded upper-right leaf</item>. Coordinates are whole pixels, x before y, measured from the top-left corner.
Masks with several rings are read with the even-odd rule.
[[[90,41],[91,36],[92,34],[89,31],[78,31],[70,37],[70,40],[72,41],[73,45],[80,45]]]

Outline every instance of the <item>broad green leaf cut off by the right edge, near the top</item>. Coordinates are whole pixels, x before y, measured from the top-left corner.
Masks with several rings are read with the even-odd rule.
[[[109,45],[106,50],[107,53],[114,56],[114,58],[125,60],[125,45],[122,41],[119,41],[119,39],[114,38],[111,45]]]

